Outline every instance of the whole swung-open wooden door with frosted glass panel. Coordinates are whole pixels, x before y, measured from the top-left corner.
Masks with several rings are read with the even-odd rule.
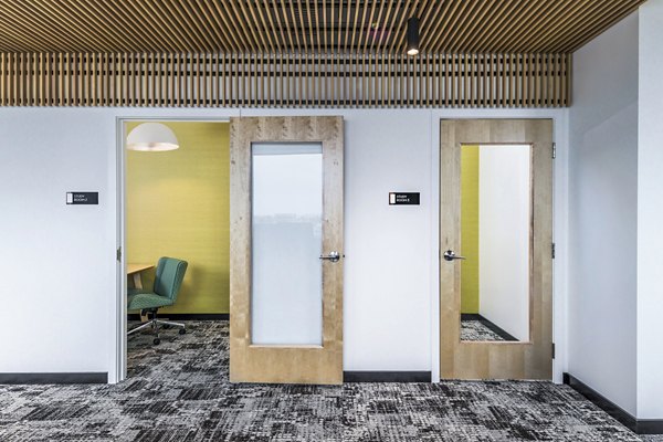
[[[230,380],[340,383],[343,118],[230,130]]]

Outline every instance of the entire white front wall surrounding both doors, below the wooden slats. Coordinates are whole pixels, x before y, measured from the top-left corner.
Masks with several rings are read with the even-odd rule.
[[[440,118],[555,118],[555,225],[566,225],[565,109],[243,109],[346,120],[345,370],[439,365]],[[238,109],[0,108],[0,372],[108,371],[116,379],[116,118],[223,117]],[[66,207],[67,190],[99,191]],[[389,207],[389,191],[422,203]],[[564,230],[556,235],[565,238]],[[565,366],[566,266],[555,270],[555,380]]]

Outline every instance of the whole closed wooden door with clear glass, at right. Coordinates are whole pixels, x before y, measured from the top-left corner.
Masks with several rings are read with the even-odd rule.
[[[440,372],[550,379],[552,122],[442,120]]]

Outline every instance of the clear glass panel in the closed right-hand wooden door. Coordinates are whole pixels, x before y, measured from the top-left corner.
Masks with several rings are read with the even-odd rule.
[[[461,339],[529,340],[532,146],[461,146]]]

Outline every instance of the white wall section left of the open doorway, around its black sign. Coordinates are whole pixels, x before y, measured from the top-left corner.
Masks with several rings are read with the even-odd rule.
[[[0,109],[0,372],[108,371],[115,290],[115,120]],[[66,191],[99,206],[66,206]]]

